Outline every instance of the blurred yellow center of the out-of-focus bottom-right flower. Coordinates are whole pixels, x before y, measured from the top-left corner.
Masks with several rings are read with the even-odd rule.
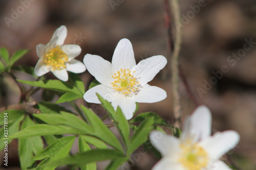
[[[201,170],[209,163],[207,152],[198,144],[181,144],[182,150],[179,162],[188,170]]]

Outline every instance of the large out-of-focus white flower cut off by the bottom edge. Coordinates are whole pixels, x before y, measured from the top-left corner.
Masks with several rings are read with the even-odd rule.
[[[152,131],[150,140],[162,155],[153,170],[231,170],[219,159],[237,145],[239,134],[230,130],[210,136],[210,132],[211,114],[205,106],[185,120],[180,139]]]

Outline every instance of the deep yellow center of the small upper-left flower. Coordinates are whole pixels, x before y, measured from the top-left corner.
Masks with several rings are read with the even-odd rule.
[[[60,70],[66,68],[65,63],[67,61],[68,56],[59,48],[59,45],[49,50],[45,55],[45,63],[48,67],[51,67],[53,71],[55,69]]]

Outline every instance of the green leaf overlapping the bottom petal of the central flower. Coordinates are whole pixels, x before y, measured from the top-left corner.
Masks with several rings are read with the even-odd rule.
[[[118,107],[117,111],[115,111],[111,103],[104,100],[99,94],[97,94],[97,96],[102,106],[109,112],[110,117],[114,120],[114,124],[117,127],[119,133],[121,134],[125,146],[127,147],[129,144],[130,128],[128,121],[126,120],[120,107]]]

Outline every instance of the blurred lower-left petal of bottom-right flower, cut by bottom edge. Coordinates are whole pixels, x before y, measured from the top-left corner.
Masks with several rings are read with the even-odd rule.
[[[182,166],[182,164],[168,158],[162,158],[159,162],[155,164],[152,170],[187,170]]]

